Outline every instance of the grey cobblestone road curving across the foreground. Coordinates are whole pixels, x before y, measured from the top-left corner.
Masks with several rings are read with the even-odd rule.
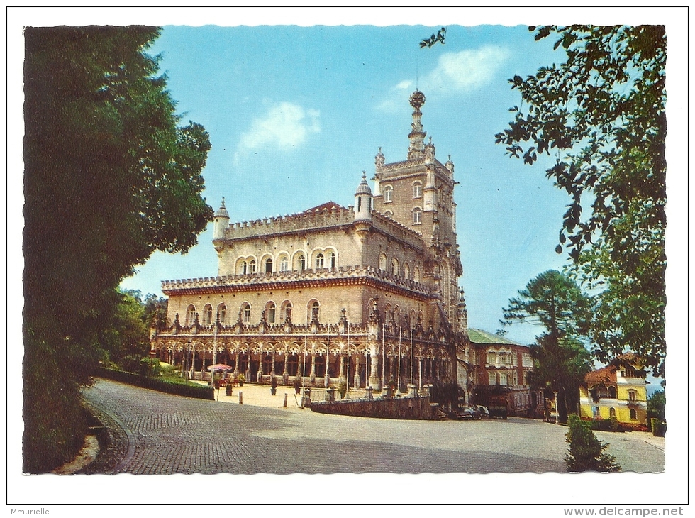
[[[567,429],[530,419],[332,416],[190,399],[108,380],[97,380],[84,397],[123,429],[113,434],[121,459],[111,473],[565,471]],[[614,451],[616,436],[621,440]],[[118,443],[126,440],[127,445]],[[608,440],[623,470],[663,469],[663,448],[635,434]]]

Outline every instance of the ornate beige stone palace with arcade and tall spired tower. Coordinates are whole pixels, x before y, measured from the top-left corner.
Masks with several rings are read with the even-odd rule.
[[[230,224],[223,200],[218,276],[162,282],[169,326],[153,354],[195,378],[224,363],[250,382],[457,382],[468,400],[476,346],[458,285],[454,164],[425,142],[424,103],[413,92],[406,160],[387,163],[379,148],[374,190],[363,173],[354,205]]]

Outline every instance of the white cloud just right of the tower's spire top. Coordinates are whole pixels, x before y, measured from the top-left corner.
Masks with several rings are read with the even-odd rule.
[[[448,92],[466,92],[494,79],[510,53],[506,48],[486,45],[476,50],[462,50],[439,57],[435,70],[424,82]]]

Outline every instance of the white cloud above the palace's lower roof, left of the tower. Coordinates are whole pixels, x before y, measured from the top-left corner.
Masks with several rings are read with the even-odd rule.
[[[248,130],[242,134],[234,155],[235,162],[246,153],[261,148],[296,148],[304,143],[310,133],[321,131],[320,116],[318,110],[305,110],[299,104],[274,104],[265,114],[253,119]]]

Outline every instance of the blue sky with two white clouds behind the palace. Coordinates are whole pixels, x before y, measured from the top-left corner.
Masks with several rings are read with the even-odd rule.
[[[421,49],[438,26],[165,26],[161,54],[178,110],[203,124],[212,149],[205,197],[231,221],[353,202],[362,170],[404,160],[416,87],[423,126],[455,178],[457,231],[469,325],[499,328],[516,290],[549,268],[567,197],[495,145],[521,99],[507,79],[562,60],[526,26],[447,26],[446,44]],[[123,287],[160,292],[160,281],[216,275],[211,227],[187,255],[155,253]],[[536,329],[515,324],[528,343]]]

